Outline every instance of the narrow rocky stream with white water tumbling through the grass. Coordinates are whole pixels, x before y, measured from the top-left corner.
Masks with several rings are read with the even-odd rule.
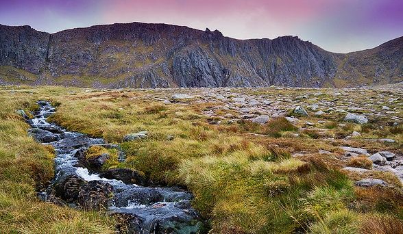
[[[192,194],[177,187],[144,187],[117,179],[106,179],[80,165],[77,153],[85,151],[89,146],[116,146],[107,144],[103,139],[66,131],[47,122],[47,117],[56,111],[55,107],[49,101],[38,101],[38,105],[40,109],[34,118],[27,120],[32,127],[29,134],[42,144],[50,144],[56,152],[55,178],[49,189],[40,193],[42,200],[50,197],[52,186],[68,177],[77,177],[86,182],[97,181],[98,185],[112,187],[113,196],[108,201],[109,212],[126,217],[125,225],[129,233],[197,233],[202,228],[197,212],[190,205]],[[64,189],[69,190],[69,187]],[[66,200],[64,202],[69,203]],[[73,203],[69,205],[76,206]]]

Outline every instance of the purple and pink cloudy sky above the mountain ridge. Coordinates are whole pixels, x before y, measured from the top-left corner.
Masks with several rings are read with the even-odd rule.
[[[403,36],[403,0],[0,0],[0,24],[50,33],[111,23],[218,29],[238,39],[299,36],[332,52]]]

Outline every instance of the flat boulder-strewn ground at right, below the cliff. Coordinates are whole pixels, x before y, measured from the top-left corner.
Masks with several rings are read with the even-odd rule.
[[[295,95],[297,94],[297,95]],[[149,99],[162,101],[164,105],[180,103],[214,103],[202,114],[212,125],[231,124],[239,120],[250,120],[265,125],[271,118],[285,116],[298,126],[296,133],[286,137],[299,138],[304,131],[315,131],[317,141],[334,142],[343,151],[340,158],[349,160],[365,155],[373,163],[372,168],[345,166],[351,172],[392,172],[403,181],[403,152],[395,153],[384,149],[349,147],[353,142],[381,142],[402,146],[402,139],[376,138],[371,134],[351,131],[349,135],[334,135],[326,124],[339,120],[335,127],[346,127],[346,123],[371,125],[378,131],[384,127],[403,125],[403,83],[388,86],[373,86],[350,89],[305,89],[305,88],[187,88],[163,90],[149,95]],[[361,129],[363,131],[363,129]],[[365,130],[364,130],[365,131]],[[264,135],[262,135],[264,136]],[[370,143],[369,143],[370,144]],[[381,145],[382,145],[381,144]],[[332,154],[319,149],[318,153]],[[304,155],[304,152],[295,153]],[[363,179],[357,185],[386,185],[382,180]]]

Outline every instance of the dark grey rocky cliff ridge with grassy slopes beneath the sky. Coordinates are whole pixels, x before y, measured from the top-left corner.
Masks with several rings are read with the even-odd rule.
[[[361,86],[403,79],[403,37],[338,54],[297,37],[129,23],[56,34],[0,25],[0,83],[94,87]]]

